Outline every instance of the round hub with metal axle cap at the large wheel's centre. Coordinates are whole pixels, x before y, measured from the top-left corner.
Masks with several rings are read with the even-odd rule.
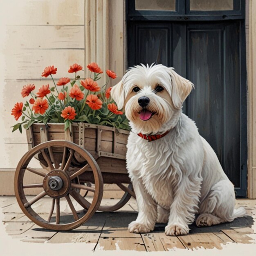
[[[64,171],[55,169],[47,173],[43,180],[43,189],[52,198],[61,198],[70,190],[70,177]]]

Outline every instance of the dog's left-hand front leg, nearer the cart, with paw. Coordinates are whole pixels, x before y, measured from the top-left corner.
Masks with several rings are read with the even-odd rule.
[[[155,227],[157,204],[145,191],[143,184],[139,180],[133,181],[132,185],[136,194],[139,213],[137,219],[128,225],[128,230],[131,233],[148,233]]]

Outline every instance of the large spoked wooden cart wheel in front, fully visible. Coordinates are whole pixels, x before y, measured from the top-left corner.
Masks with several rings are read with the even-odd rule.
[[[61,164],[57,163],[56,159],[53,159],[54,153],[52,154],[52,152],[56,151],[58,153],[62,152]],[[84,166],[72,166],[74,152],[85,159]],[[33,164],[32,158],[40,162],[40,157],[37,157],[39,154],[43,156],[43,165],[46,167],[43,170],[31,167]],[[35,156],[36,158],[34,158]],[[76,182],[78,176],[84,173],[88,166],[90,166],[94,175],[94,188],[77,184]],[[38,184],[24,184],[24,175],[29,172],[38,175],[41,182]],[[38,226],[47,229],[69,230],[79,227],[97,211],[103,195],[103,179],[97,162],[85,149],[65,140],[47,141],[31,148],[20,159],[14,179],[15,195],[20,208]],[[24,189],[29,188],[42,188],[42,191],[34,198],[27,200]],[[94,192],[90,207],[88,207],[87,201],[83,196],[77,192],[78,189]],[[49,214],[46,217],[44,217],[45,214],[37,213],[37,207],[35,207],[35,203],[45,195],[48,198],[50,197],[49,200],[51,201]],[[64,214],[61,213],[60,204],[65,204],[66,206]],[[79,207],[78,204],[82,206],[80,211],[75,209],[75,207]],[[55,214],[53,214],[54,208]],[[85,212],[83,209],[87,209],[87,211]],[[67,214],[67,211],[72,214],[72,218],[70,218],[70,214]],[[55,215],[55,218],[53,215]]]

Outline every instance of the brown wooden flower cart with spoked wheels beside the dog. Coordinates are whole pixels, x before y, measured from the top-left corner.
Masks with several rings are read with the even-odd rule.
[[[123,207],[131,196],[135,198],[126,171],[128,134],[127,130],[85,123],[73,124],[71,132],[64,131],[64,124],[33,124],[27,130],[29,151],[20,159],[15,174],[15,195],[22,211],[40,227],[69,230],[82,225],[97,210]],[[41,167],[35,168],[35,162]],[[37,175],[40,182],[25,184],[25,175]],[[117,184],[124,191],[115,205],[100,206],[103,184]],[[28,198],[31,188],[40,192]],[[84,195],[81,190],[86,191]],[[88,191],[92,194],[90,200],[85,197]],[[47,216],[36,213],[33,207],[45,196],[52,198]],[[63,199],[71,216],[61,214]],[[71,199],[83,210],[76,210]]]

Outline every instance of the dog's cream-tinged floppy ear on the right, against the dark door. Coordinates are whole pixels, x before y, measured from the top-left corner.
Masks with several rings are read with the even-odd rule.
[[[194,88],[193,83],[188,79],[177,74],[173,68],[168,68],[171,81],[172,81],[172,92],[171,98],[175,108],[181,108],[182,103],[185,101],[186,97],[189,96],[191,90]]]

